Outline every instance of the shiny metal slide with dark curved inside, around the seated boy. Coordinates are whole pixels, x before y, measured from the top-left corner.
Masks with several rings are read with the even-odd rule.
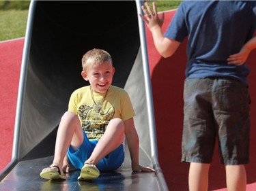
[[[12,161],[0,190],[168,190],[158,164],[150,72],[141,1],[31,1],[18,89]],[[102,48],[113,58],[113,85],[130,94],[140,138],[140,163],[156,173],[133,173],[130,156],[95,181],[47,181],[40,171],[53,160],[57,127],[70,94],[87,85],[81,58]]]

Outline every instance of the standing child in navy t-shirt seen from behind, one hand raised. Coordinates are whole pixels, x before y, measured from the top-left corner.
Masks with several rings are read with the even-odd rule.
[[[165,34],[156,4],[146,2],[142,10],[161,56],[172,56],[188,37],[182,162],[190,162],[189,190],[208,190],[216,139],[227,189],[246,190],[250,70],[245,61],[256,48],[255,1],[182,1]]]

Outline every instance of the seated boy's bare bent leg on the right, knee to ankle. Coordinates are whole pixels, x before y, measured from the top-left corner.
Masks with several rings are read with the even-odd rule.
[[[88,158],[85,163],[96,165],[104,156],[109,154],[109,152],[119,147],[119,145],[124,142],[124,130],[124,122],[121,119],[115,118],[111,120],[104,135],[94,148],[94,152],[92,152],[90,158]]]

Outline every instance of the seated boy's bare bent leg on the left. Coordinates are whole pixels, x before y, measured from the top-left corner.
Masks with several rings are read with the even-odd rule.
[[[63,159],[66,156],[66,152],[70,144],[74,150],[78,150],[83,143],[83,139],[83,129],[81,128],[81,123],[79,122],[78,116],[70,111],[67,111],[65,114],[63,114],[61,122],[59,123],[55,143],[55,154],[53,164],[51,166],[57,165],[59,169],[62,169]],[[53,168],[57,170],[56,167]],[[48,167],[43,169],[43,171],[53,168]],[[61,175],[63,175],[62,171]]]

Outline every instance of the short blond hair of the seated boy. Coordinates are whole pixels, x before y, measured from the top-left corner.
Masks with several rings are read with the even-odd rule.
[[[100,65],[104,62],[111,62],[111,65],[113,66],[112,58],[109,52],[106,52],[105,50],[98,49],[98,48],[89,50],[83,55],[83,58],[82,58],[83,71],[85,71],[88,66],[91,66],[94,64]]]

